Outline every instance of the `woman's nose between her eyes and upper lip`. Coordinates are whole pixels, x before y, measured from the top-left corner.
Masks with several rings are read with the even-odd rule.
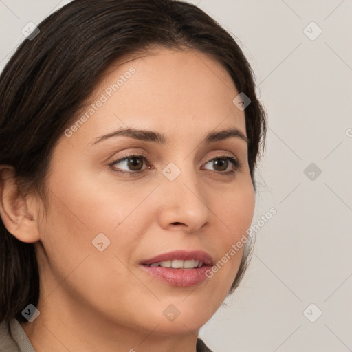
[[[165,230],[192,233],[210,223],[210,195],[201,186],[195,170],[182,170],[173,181],[162,175],[158,191],[159,224]]]

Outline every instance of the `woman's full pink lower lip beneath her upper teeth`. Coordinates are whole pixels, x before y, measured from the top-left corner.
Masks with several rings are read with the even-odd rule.
[[[199,283],[208,278],[206,272],[211,266],[203,265],[202,267],[195,267],[194,269],[174,269],[172,267],[151,267],[149,265],[142,265],[142,268],[152,276],[159,278],[159,280],[169,285],[191,287],[199,285]]]

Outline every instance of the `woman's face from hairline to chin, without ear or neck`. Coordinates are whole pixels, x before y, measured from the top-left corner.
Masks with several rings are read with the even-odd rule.
[[[234,281],[243,248],[229,252],[254,212],[247,142],[234,133],[205,140],[246,135],[232,102],[239,91],[197,51],[159,49],[116,67],[54,148],[36,243],[39,310],[163,335],[196,331]],[[125,129],[152,132],[103,137]],[[207,257],[207,267],[190,268]]]

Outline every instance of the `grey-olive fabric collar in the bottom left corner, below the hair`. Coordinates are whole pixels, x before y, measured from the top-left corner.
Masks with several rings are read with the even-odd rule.
[[[35,352],[18,320],[0,323],[0,352]]]

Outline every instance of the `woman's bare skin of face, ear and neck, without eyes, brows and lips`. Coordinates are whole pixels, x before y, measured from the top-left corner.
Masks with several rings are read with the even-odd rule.
[[[143,259],[172,250],[203,250],[216,263],[250,227],[255,194],[244,140],[202,142],[229,127],[245,135],[244,111],[232,103],[239,91],[225,69],[201,52],[159,47],[111,67],[92,97],[131,66],[135,74],[118,92],[58,140],[47,212],[39,195],[19,191],[10,167],[1,168],[3,222],[36,245],[41,314],[21,326],[39,352],[195,352],[199,328],[239,269],[243,248],[197,287],[174,287],[140,269]],[[163,133],[168,143],[119,136],[91,146],[126,126]],[[141,151],[150,164],[137,176],[126,160],[109,166]],[[224,153],[240,168],[207,161]],[[181,171],[174,181],[162,173],[170,162]],[[100,232],[111,241],[103,252],[91,243]],[[180,311],[173,322],[163,314],[170,304]]]

